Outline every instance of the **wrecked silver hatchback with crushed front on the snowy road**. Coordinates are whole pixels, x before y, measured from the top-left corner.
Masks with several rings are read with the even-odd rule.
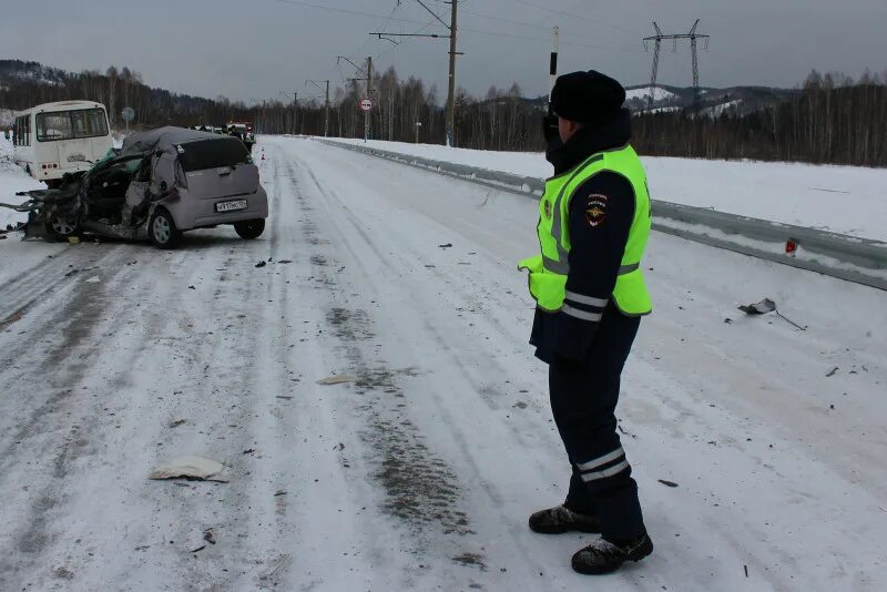
[[[81,233],[151,239],[173,248],[184,231],[231,224],[243,238],[265,229],[268,198],[237,137],[182,127],[134,133],[80,176],[52,190],[21,192],[26,237]]]

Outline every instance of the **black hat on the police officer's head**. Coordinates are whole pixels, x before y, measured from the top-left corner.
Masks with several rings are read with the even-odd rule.
[[[603,123],[619,115],[625,89],[594,70],[559,76],[551,90],[551,110],[577,123]]]

